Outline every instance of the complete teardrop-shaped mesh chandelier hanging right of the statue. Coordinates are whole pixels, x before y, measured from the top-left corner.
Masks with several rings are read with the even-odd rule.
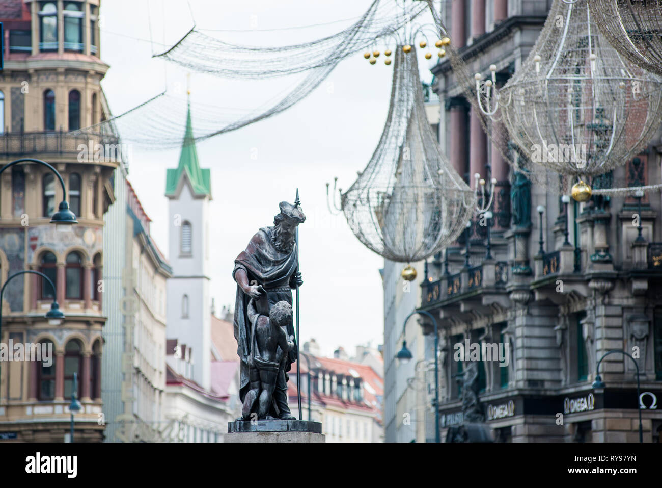
[[[377,149],[349,190],[339,191],[339,203],[335,184],[332,192],[359,241],[401,263],[455,241],[476,205],[475,192],[451,168],[430,128],[413,45],[393,52],[389,115]],[[403,277],[415,273],[407,267]]]

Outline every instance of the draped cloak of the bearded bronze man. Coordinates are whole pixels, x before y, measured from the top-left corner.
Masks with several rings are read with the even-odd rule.
[[[292,304],[292,292],[290,280],[297,272],[297,245],[289,252],[279,251],[271,242],[271,230],[273,227],[263,227],[253,236],[237,259],[234,260],[234,273],[239,269],[246,271],[248,282],[256,281],[267,290],[269,308],[280,300],[286,300]],[[253,283],[255,284],[255,283]],[[273,290],[278,288],[277,290]],[[287,289],[285,289],[287,288]],[[240,399],[248,391],[248,357],[250,355],[251,343],[251,321],[248,318],[248,302],[250,296],[237,285],[237,296],[234,304],[234,338],[237,339],[237,354],[241,359],[240,367]],[[287,326],[287,335],[295,335],[294,326],[290,322]],[[288,353],[285,371],[289,371],[291,364],[297,359],[296,348]]]

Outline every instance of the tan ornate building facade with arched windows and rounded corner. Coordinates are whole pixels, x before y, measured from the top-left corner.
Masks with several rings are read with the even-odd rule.
[[[36,270],[56,288],[53,294],[45,280],[24,274],[5,290],[0,342],[46,344],[54,356],[48,362],[0,364],[0,433],[5,439],[65,440],[74,373],[83,406],[75,416],[76,440],[103,438],[103,217],[115,201],[112,175],[122,156],[113,135],[71,133],[109,113],[100,86],[108,66],[98,57],[98,10],[95,0],[2,3],[0,163],[29,157],[52,164],[78,219],[69,232],[49,223],[63,195],[58,178],[44,166],[17,164],[3,172],[2,282],[19,271]],[[98,147],[103,151],[94,157]],[[66,314],[58,326],[44,319],[54,299]]]

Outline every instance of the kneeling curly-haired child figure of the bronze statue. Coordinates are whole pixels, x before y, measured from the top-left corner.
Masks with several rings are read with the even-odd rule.
[[[266,297],[266,293],[263,293]],[[251,347],[248,357],[250,391],[246,393],[242,418],[250,420],[258,402],[258,419],[277,420],[269,415],[273,391],[278,373],[285,366],[287,353],[294,347],[294,336],[287,337],[285,327],[292,320],[292,306],[285,300],[277,302],[269,310],[266,300],[252,298],[248,303],[248,318],[251,321]],[[267,316],[268,314],[268,316]]]

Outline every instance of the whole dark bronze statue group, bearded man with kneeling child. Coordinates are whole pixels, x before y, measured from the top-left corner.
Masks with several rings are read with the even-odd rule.
[[[303,284],[301,273],[297,269],[299,251],[295,243],[295,236],[297,225],[305,220],[306,216],[298,204],[281,202],[280,213],[273,218],[273,227],[261,228],[250,240],[246,249],[234,260],[232,277],[237,283],[234,337],[237,339],[237,353],[241,359],[239,396],[244,403],[242,418],[238,420],[250,419],[251,414],[255,412],[258,413],[260,420],[295,418],[287,405],[287,381],[289,379],[287,371],[297,360],[295,331],[292,323],[291,290]],[[279,302],[286,302],[289,305],[287,318],[283,317],[285,306]],[[277,304],[279,304],[275,310],[277,313],[271,317],[271,310]],[[272,321],[274,324],[271,324]],[[285,327],[286,340],[284,343],[277,330],[271,332],[266,328],[267,322],[271,327]],[[254,324],[256,329],[261,328],[261,332],[268,330],[268,334],[265,332],[265,335],[260,337],[262,334],[253,330]],[[271,341],[273,337],[278,336],[280,336],[278,349],[272,351],[269,349],[273,347]],[[265,359],[263,351],[267,349],[269,349],[268,357],[279,358],[266,359],[269,362],[279,363],[277,373],[273,365],[261,363],[261,370],[256,366],[254,357],[258,351],[256,351],[256,346],[252,348],[254,338],[261,359]],[[262,345],[260,345],[260,341],[262,341]],[[274,356],[271,355],[272,353]],[[265,371],[264,379],[262,379],[262,371]],[[273,394],[265,394],[265,404],[262,405],[261,393],[251,393],[251,395],[248,393],[253,392],[256,385],[261,391],[264,391],[265,388],[270,389],[272,373],[275,373]],[[258,406],[256,406],[257,398],[260,398]]]

